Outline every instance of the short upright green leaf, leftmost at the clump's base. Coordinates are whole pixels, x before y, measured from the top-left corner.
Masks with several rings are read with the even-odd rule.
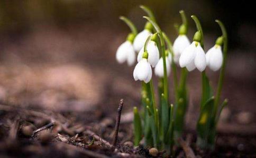
[[[142,139],[142,126],[141,126],[141,118],[138,113],[138,108],[133,107],[133,126],[134,126],[134,145],[138,146]]]

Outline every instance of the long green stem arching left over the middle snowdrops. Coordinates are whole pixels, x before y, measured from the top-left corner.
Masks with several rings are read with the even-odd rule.
[[[160,27],[158,26],[158,24],[156,22],[154,22],[150,17],[147,17],[147,16],[143,16],[143,17],[146,18],[154,26],[154,28],[156,29],[156,31],[158,32],[158,35],[160,37],[161,49],[159,49],[159,50],[163,57],[163,74],[164,74],[163,75],[163,94],[168,103],[168,81],[167,81],[167,69],[166,69],[166,54],[164,53],[165,46],[164,46],[162,31],[161,31]]]

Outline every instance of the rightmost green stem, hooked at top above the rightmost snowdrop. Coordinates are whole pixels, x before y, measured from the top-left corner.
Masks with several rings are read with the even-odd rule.
[[[220,78],[218,80],[218,87],[217,87],[217,92],[216,92],[216,99],[214,102],[214,114],[216,115],[217,113],[217,108],[218,104],[220,102],[220,96],[221,96],[221,90],[222,90],[222,85],[223,85],[223,78],[224,78],[224,73],[225,73],[225,67],[226,67],[226,59],[227,59],[227,32],[226,28],[223,25],[223,23],[219,20],[216,20],[216,23],[220,25],[221,31],[222,31],[222,36],[223,36],[223,64],[220,72]]]

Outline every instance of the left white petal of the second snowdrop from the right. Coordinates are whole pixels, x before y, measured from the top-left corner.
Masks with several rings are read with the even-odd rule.
[[[179,65],[180,67],[185,67],[186,65],[190,64],[191,61],[194,60],[196,53],[196,45],[195,42],[190,44],[185,50],[181,53],[179,58]]]

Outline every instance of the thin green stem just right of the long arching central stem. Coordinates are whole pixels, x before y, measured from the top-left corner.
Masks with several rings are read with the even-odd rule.
[[[178,94],[177,67],[174,62],[174,53],[172,50],[172,43],[171,43],[169,37],[164,32],[162,32],[162,34],[163,34],[164,41],[166,41],[166,43],[167,43],[168,50],[171,52],[171,69],[172,69],[172,73],[173,73],[173,85],[174,85],[174,89],[175,89],[175,97],[177,97],[178,96],[177,95]],[[176,98],[176,102],[177,101],[178,101],[178,98]]]

